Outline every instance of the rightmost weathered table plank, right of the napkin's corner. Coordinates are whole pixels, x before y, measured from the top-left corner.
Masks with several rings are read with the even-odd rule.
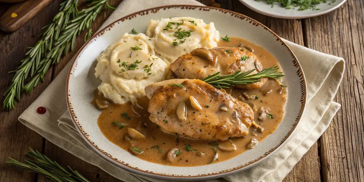
[[[349,0],[334,12],[304,21],[307,47],[346,60],[334,101],[342,106],[320,138],[326,182],[364,181],[364,5]]]

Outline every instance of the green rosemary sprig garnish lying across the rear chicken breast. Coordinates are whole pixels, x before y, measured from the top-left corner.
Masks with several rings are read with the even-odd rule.
[[[217,89],[221,88],[229,88],[229,86],[239,85],[239,84],[248,84],[260,82],[261,78],[273,78],[278,80],[279,77],[284,76],[282,72],[278,72],[278,66],[272,66],[270,68],[265,68],[261,72],[253,75],[249,75],[255,69],[240,73],[240,71],[235,72],[231,75],[220,75],[220,72],[217,72],[213,75],[209,75],[206,78],[202,79],[202,81],[214,86]],[[280,82],[280,80],[278,80]]]

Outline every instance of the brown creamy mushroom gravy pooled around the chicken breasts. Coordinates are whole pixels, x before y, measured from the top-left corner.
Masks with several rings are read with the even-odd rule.
[[[263,64],[263,68],[273,65],[280,66],[276,58],[264,50],[264,48],[241,38],[230,37],[230,41],[221,40],[218,46],[236,46],[239,44],[252,48],[253,53]],[[247,47],[247,50],[249,50],[249,47]],[[248,103],[253,108],[254,120],[264,128],[264,131],[259,133],[250,128],[247,137],[231,138],[231,142],[236,145],[236,150],[233,151],[223,151],[223,143],[216,145],[218,157],[212,163],[228,160],[248,150],[247,147],[250,145],[251,139],[256,139],[258,142],[264,140],[276,130],[284,115],[287,90],[286,87],[282,87],[276,80],[269,79],[264,86],[252,91],[228,89],[226,92],[242,102]],[[256,97],[252,95],[256,95]],[[250,97],[254,99],[248,99]],[[96,107],[95,99],[98,98],[103,98],[103,96],[99,95],[96,89],[94,100],[91,102]],[[114,104],[110,102],[108,108],[103,110],[98,118],[98,126],[101,132],[112,143],[135,154],[130,148],[131,143],[133,143],[135,147],[143,151],[136,156],[145,161],[168,166],[201,166],[208,165],[211,162],[215,156],[215,150],[208,141],[198,141],[181,136],[176,138],[176,135],[162,131],[157,124],[149,120],[148,104],[149,99],[146,97],[140,98],[134,103]],[[261,107],[269,108],[269,113],[271,114],[271,116],[266,114],[266,118],[262,121],[259,119]],[[130,119],[127,119],[121,113],[127,113]],[[123,128],[115,126],[112,123],[114,121],[123,123],[125,126]],[[128,128],[134,128],[139,131],[145,136],[145,139],[133,139],[133,141],[130,141],[129,138],[126,138]],[[220,142],[217,143],[219,144]],[[187,151],[185,149],[187,144],[190,145],[190,149],[195,151]],[[258,143],[257,145],[260,144]],[[177,155],[172,161],[168,160],[168,154],[174,148],[179,149],[181,154]]]

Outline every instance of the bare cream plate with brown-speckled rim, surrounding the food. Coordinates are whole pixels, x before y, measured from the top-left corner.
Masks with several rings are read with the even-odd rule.
[[[163,166],[143,161],[109,142],[101,133],[97,119],[100,111],[90,104],[93,90],[100,84],[94,76],[96,57],[107,46],[135,28],[145,32],[151,19],[191,16],[213,21],[221,35],[242,37],[272,53],[281,64],[289,85],[286,111],[277,130],[254,149],[227,161],[196,167]],[[229,23],[227,23],[229,22]],[[288,141],[306,105],[306,82],[300,63],[290,48],[270,29],[244,15],[219,8],[173,5],[133,13],[108,25],[92,37],[76,55],[67,79],[67,102],[76,128],[101,156],[125,169],[151,177],[196,180],[218,178],[257,165],[273,155]]]

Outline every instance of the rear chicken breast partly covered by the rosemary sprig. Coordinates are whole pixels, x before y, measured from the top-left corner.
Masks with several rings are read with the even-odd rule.
[[[170,64],[171,74],[175,78],[203,79],[216,72],[221,75],[230,75],[241,70],[246,72],[255,69],[251,74],[262,71],[259,59],[250,51],[241,46],[215,47],[210,50],[197,48],[190,53],[180,56]],[[262,78],[260,82],[236,85],[238,88],[253,90],[260,88],[267,81]]]

